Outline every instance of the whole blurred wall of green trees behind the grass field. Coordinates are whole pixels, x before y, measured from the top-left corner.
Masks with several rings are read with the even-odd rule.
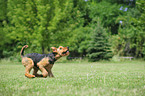
[[[68,59],[145,59],[144,0],[0,0],[0,58],[69,46]]]

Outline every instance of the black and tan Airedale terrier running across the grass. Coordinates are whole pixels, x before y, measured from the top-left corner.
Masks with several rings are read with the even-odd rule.
[[[25,76],[28,78],[54,77],[51,71],[54,62],[62,56],[69,55],[69,48],[60,46],[59,48],[51,47],[53,52],[50,54],[29,53],[24,56],[24,49],[27,47],[28,45],[23,46],[20,54],[22,64],[25,66]],[[32,68],[34,69],[33,75],[30,74]],[[42,74],[37,74],[38,70],[40,70]]]

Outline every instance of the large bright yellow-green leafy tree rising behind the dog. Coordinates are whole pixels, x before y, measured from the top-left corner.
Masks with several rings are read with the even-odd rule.
[[[7,14],[10,23],[5,22],[4,31],[13,43],[20,41],[20,45],[31,45],[33,52],[44,53],[44,48],[60,44],[68,34],[62,30],[68,26],[66,19],[71,9],[71,1],[9,0]]]

